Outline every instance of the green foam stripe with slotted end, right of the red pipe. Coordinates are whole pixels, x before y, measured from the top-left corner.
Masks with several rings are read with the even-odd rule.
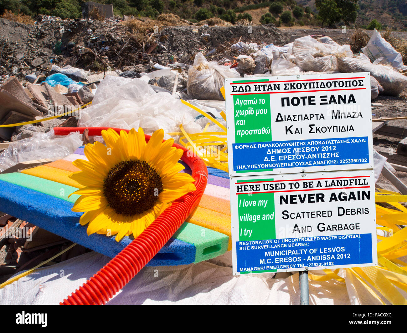
[[[217,257],[228,250],[229,236],[197,224],[185,222],[174,237],[195,245],[195,263]]]

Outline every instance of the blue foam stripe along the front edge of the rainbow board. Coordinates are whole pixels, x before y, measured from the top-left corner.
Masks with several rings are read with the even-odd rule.
[[[30,222],[72,242],[81,244],[108,257],[116,256],[133,237],[123,237],[116,242],[115,236],[86,233],[86,226],[79,224],[82,213],[71,210],[72,203],[37,192],[26,187],[0,181],[0,207],[17,218]],[[158,252],[151,265],[186,265],[195,261],[196,248],[179,239],[170,239]],[[182,254],[182,256],[181,256]]]

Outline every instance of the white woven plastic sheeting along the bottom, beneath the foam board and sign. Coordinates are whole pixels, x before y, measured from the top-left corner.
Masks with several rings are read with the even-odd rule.
[[[89,252],[42,268],[0,289],[0,303],[59,304],[109,260]],[[300,304],[298,273],[233,276],[230,261],[227,252],[197,264],[145,267],[107,304]],[[357,289],[333,280],[310,281],[310,303],[351,304],[347,287],[358,304]]]

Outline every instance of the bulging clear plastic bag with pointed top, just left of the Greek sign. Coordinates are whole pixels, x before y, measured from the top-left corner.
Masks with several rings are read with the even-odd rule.
[[[199,52],[188,70],[188,95],[198,100],[223,100],[219,89],[225,84],[225,78],[236,77],[239,77],[236,70],[218,65],[215,61],[208,62]]]

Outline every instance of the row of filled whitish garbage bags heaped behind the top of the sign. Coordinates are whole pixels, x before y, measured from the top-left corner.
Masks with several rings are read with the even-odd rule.
[[[372,100],[379,94],[398,96],[407,87],[401,54],[377,30],[359,54],[328,36],[299,37],[284,46],[240,41],[232,49],[240,53],[234,64],[244,76],[369,72]]]

